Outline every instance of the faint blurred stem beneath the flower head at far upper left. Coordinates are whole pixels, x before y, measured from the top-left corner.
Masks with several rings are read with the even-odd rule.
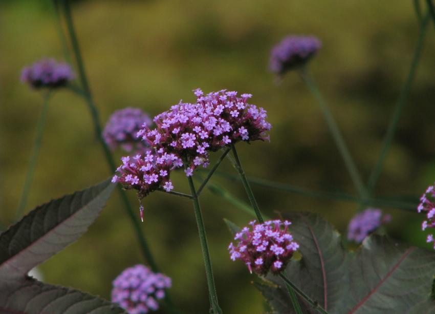
[[[27,197],[29,196],[30,186],[32,185],[33,176],[35,174],[36,162],[38,160],[39,150],[42,144],[42,136],[44,135],[44,129],[47,122],[48,104],[50,100],[51,92],[47,92],[44,95],[44,102],[42,103],[41,113],[39,115],[38,122],[36,124],[36,136],[33,141],[32,155],[30,157],[29,168],[27,169],[26,180],[24,183],[23,193],[19,201],[18,209],[15,214],[15,218],[19,219],[24,214],[26,208]]]

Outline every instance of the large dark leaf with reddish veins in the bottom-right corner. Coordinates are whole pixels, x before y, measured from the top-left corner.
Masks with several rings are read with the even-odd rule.
[[[379,235],[366,238],[357,252],[347,252],[340,235],[320,216],[290,213],[284,217],[293,222],[290,230],[302,254],[300,261],[289,263],[289,279],[330,313],[434,312],[434,252]],[[294,313],[285,284],[276,276],[267,279],[275,285],[259,289],[275,312]],[[300,305],[310,310],[307,304]]]

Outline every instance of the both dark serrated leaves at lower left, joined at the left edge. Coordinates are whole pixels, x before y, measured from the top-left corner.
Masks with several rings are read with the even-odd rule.
[[[81,237],[114,189],[106,180],[36,207],[0,235],[0,311],[19,313],[124,313],[101,298],[38,282],[30,269]]]

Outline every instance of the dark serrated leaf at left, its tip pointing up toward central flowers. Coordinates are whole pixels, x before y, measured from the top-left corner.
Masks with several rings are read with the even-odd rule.
[[[44,262],[76,241],[98,217],[114,184],[106,180],[36,207],[0,235],[0,282],[24,278]]]

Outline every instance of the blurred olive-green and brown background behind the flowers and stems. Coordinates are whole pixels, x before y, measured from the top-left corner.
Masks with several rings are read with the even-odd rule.
[[[273,124],[270,143],[240,144],[249,175],[322,191],[355,194],[320,110],[295,73],[277,83],[268,71],[271,47],[287,34],[313,34],[323,48],[310,66],[364,178],[372,170],[394,103],[408,72],[418,24],[412,2],[366,1],[79,1],[73,4],[91,89],[104,123],[126,106],[154,116],[192,90],[253,94]],[[376,195],[416,201],[433,183],[435,32],[422,59]],[[42,97],[19,82],[41,57],[64,59],[49,1],[0,2],[0,221],[13,222],[23,188]],[[84,101],[69,91],[52,98],[27,211],[93,185],[111,174]],[[116,152],[117,157],[121,152]],[[216,156],[215,156],[216,157]],[[214,158],[215,158],[214,157]],[[232,173],[228,162],[223,171]],[[173,175],[187,191],[184,174]],[[239,182],[216,178],[247,201]],[[254,187],[262,210],[312,211],[345,233],[358,205]],[[129,193],[137,205],[135,193]],[[228,218],[251,217],[205,191],[202,206],[220,303],[226,313],[260,313],[263,298],[241,263],[229,260]],[[141,224],[172,299],[187,313],[205,313],[208,297],[200,243],[189,200],[155,193]],[[421,217],[384,208],[395,238],[425,246]],[[138,212],[139,215],[139,212]],[[110,298],[122,269],[143,259],[117,193],[88,233],[39,269],[45,281]]]

